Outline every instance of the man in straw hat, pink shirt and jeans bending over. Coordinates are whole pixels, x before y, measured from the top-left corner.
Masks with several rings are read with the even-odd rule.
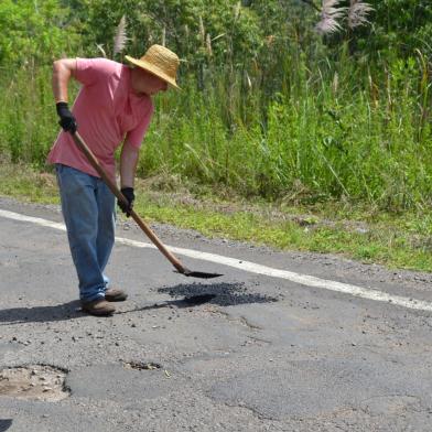
[[[115,241],[115,196],[72,134],[79,130],[114,180],[115,151],[122,143],[120,184],[129,205],[118,205],[129,216],[139,149],[153,114],[151,98],[165,91],[168,85],[177,87],[179,57],[164,46],[152,45],[140,60],[126,58],[133,67],[106,58],[64,58],[53,65],[53,93],[63,130],[48,162],[56,166],[82,309],[98,316],[112,314],[116,309],[111,302],[127,298],[125,291],[110,287],[104,273]],[[83,85],[72,112],[67,104],[71,77]]]

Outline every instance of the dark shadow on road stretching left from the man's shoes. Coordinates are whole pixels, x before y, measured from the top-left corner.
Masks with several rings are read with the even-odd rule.
[[[68,303],[55,304],[53,306],[12,307],[0,310],[0,323],[7,324],[66,321],[82,316],[83,313],[79,310],[79,302],[76,300]]]

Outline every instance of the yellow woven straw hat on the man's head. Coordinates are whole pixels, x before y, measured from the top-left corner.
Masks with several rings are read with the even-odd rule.
[[[173,87],[180,88],[177,83],[175,83],[180,60],[169,48],[161,45],[152,45],[140,60],[132,58],[129,55],[126,55],[125,58],[158,76]]]

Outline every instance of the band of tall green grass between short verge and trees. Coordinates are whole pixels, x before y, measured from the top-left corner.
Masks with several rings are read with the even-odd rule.
[[[305,58],[291,52],[271,71],[209,66],[201,83],[184,77],[183,91],[156,99],[138,175],[287,202],[430,205],[431,83],[421,53],[374,69],[344,47],[337,58]],[[0,78],[0,150],[12,162],[44,168],[58,130],[50,73]]]

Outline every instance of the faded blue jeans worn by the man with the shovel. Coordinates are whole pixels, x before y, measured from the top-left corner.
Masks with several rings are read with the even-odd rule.
[[[116,199],[99,177],[56,164],[62,212],[79,281],[79,299],[104,299],[104,274],[115,242]]]

